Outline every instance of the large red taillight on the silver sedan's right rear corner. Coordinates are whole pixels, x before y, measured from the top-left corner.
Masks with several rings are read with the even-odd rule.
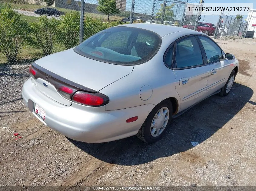
[[[106,105],[109,101],[109,98],[99,92],[93,94],[93,93],[88,93],[84,91],[77,91],[73,95],[72,101],[76,103],[81,103],[83,105],[97,107],[97,106]]]

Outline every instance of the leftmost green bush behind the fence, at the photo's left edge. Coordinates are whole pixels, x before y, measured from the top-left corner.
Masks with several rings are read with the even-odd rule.
[[[28,22],[22,20],[10,5],[1,9],[0,52],[6,56],[8,62],[16,61],[22,45],[26,44],[29,31]]]

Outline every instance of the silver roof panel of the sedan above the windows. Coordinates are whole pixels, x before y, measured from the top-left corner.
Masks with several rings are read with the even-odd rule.
[[[135,28],[141,28],[146,30],[151,30],[155,33],[157,33],[160,37],[163,37],[170,33],[176,33],[176,32],[182,32],[182,31],[191,31],[191,34],[201,34],[200,32],[182,28],[182,27],[175,27],[170,25],[164,25],[164,24],[146,24],[146,23],[138,23],[138,24],[122,24],[118,25],[116,27],[135,27]]]

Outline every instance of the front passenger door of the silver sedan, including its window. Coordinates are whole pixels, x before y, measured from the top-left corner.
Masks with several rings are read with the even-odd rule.
[[[229,67],[227,67],[228,63],[225,62],[221,48],[213,40],[201,35],[198,38],[204,48],[207,64],[211,71],[205,91],[205,95],[209,96],[225,85]]]

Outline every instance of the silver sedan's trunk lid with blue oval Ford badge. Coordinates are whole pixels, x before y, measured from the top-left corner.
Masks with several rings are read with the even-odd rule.
[[[86,58],[73,49],[39,59],[32,67],[36,72],[34,76],[31,74],[32,80],[38,90],[64,105],[72,104],[72,95],[76,91],[97,93],[133,70],[131,65],[114,65]]]

